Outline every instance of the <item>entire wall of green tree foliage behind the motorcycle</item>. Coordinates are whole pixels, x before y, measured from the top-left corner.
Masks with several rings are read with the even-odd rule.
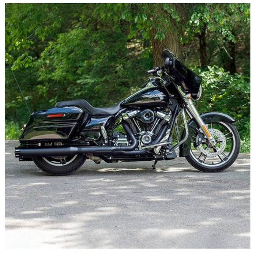
[[[198,67],[204,29],[206,69]],[[175,52],[173,38],[182,43],[185,64],[203,77],[200,111],[237,119],[242,150],[248,150],[250,4],[5,4],[7,134],[15,134],[28,117],[10,69],[31,112],[75,98],[109,106],[144,83],[156,56],[153,42],[174,40]],[[236,44],[235,75],[222,68],[230,42]]]

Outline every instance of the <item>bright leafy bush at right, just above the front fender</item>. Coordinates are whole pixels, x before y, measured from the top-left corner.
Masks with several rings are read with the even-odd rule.
[[[250,141],[250,78],[241,74],[230,75],[223,68],[208,66],[194,71],[201,76],[202,98],[197,102],[200,112],[217,111],[229,114],[243,141],[243,150],[248,150]],[[246,142],[246,143],[245,143]]]

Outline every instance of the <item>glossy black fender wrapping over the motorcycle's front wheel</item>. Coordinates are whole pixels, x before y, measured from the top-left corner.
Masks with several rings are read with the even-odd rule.
[[[216,122],[229,122],[234,123],[236,120],[227,114],[223,114],[220,112],[207,112],[200,114],[200,117],[204,121],[204,123],[216,123]],[[190,146],[191,146],[191,139],[193,135],[196,135],[199,129],[198,124],[196,123],[195,119],[192,118],[188,122],[188,139],[180,145],[180,157],[185,157],[189,154]],[[185,137],[185,130],[181,134],[181,139]]]

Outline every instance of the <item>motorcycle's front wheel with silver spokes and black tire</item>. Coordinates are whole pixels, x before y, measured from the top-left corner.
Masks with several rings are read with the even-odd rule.
[[[239,133],[232,123],[216,122],[206,125],[217,142],[216,145],[212,147],[202,133],[197,133],[192,137],[191,150],[186,159],[202,172],[221,172],[237,159],[240,149]]]

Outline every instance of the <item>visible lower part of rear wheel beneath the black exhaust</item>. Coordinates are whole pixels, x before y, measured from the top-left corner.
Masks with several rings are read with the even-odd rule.
[[[78,170],[86,160],[83,154],[66,157],[35,157],[35,165],[49,175],[70,175]]]

